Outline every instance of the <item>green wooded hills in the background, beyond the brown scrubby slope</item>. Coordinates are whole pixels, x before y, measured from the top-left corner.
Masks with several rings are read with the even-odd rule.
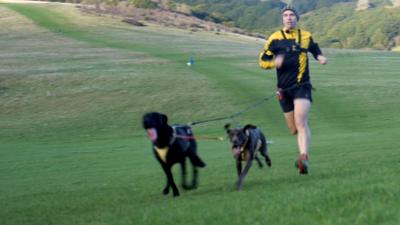
[[[270,35],[282,26],[280,9],[286,3],[273,1],[177,0],[192,6],[192,14]],[[300,26],[315,33],[321,45],[331,48],[391,50],[400,45],[400,8],[391,1],[368,2],[358,11],[354,0],[295,0],[302,14]],[[397,6],[397,7],[393,7]]]

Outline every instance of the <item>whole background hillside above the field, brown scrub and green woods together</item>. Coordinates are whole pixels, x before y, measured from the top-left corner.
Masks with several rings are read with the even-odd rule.
[[[64,1],[64,0],[59,0]],[[399,0],[67,0],[94,14],[122,16],[135,26],[155,23],[196,32],[267,37],[281,27],[280,9],[293,4],[323,47],[398,50]]]

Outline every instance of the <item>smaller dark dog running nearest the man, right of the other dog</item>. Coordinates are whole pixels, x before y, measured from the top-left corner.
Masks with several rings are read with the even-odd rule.
[[[239,177],[236,187],[237,190],[240,190],[253,159],[257,160],[260,168],[263,166],[261,160],[257,157],[257,150],[265,157],[265,162],[269,167],[271,167],[271,158],[268,156],[267,140],[256,126],[248,124],[243,128],[229,129],[229,127],[230,124],[225,125],[225,130],[232,143],[232,154],[236,159],[236,169]],[[243,170],[242,161],[247,161]]]

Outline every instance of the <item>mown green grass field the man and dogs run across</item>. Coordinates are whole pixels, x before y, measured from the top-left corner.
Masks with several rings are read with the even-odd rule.
[[[296,141],[272,99],[193,127],[217,137],[226,122],[258,125],[273,141],[272,168],[252,168],[237,192],[230,145],[199,140],[199,188],[161,194],[143,113],[187,123],[270,96],[262,45],[71,6],[0,4],[0,224],[400,224],[399,53],[324,49],[329,64],[311,62],[308,176],[293,166]]]

